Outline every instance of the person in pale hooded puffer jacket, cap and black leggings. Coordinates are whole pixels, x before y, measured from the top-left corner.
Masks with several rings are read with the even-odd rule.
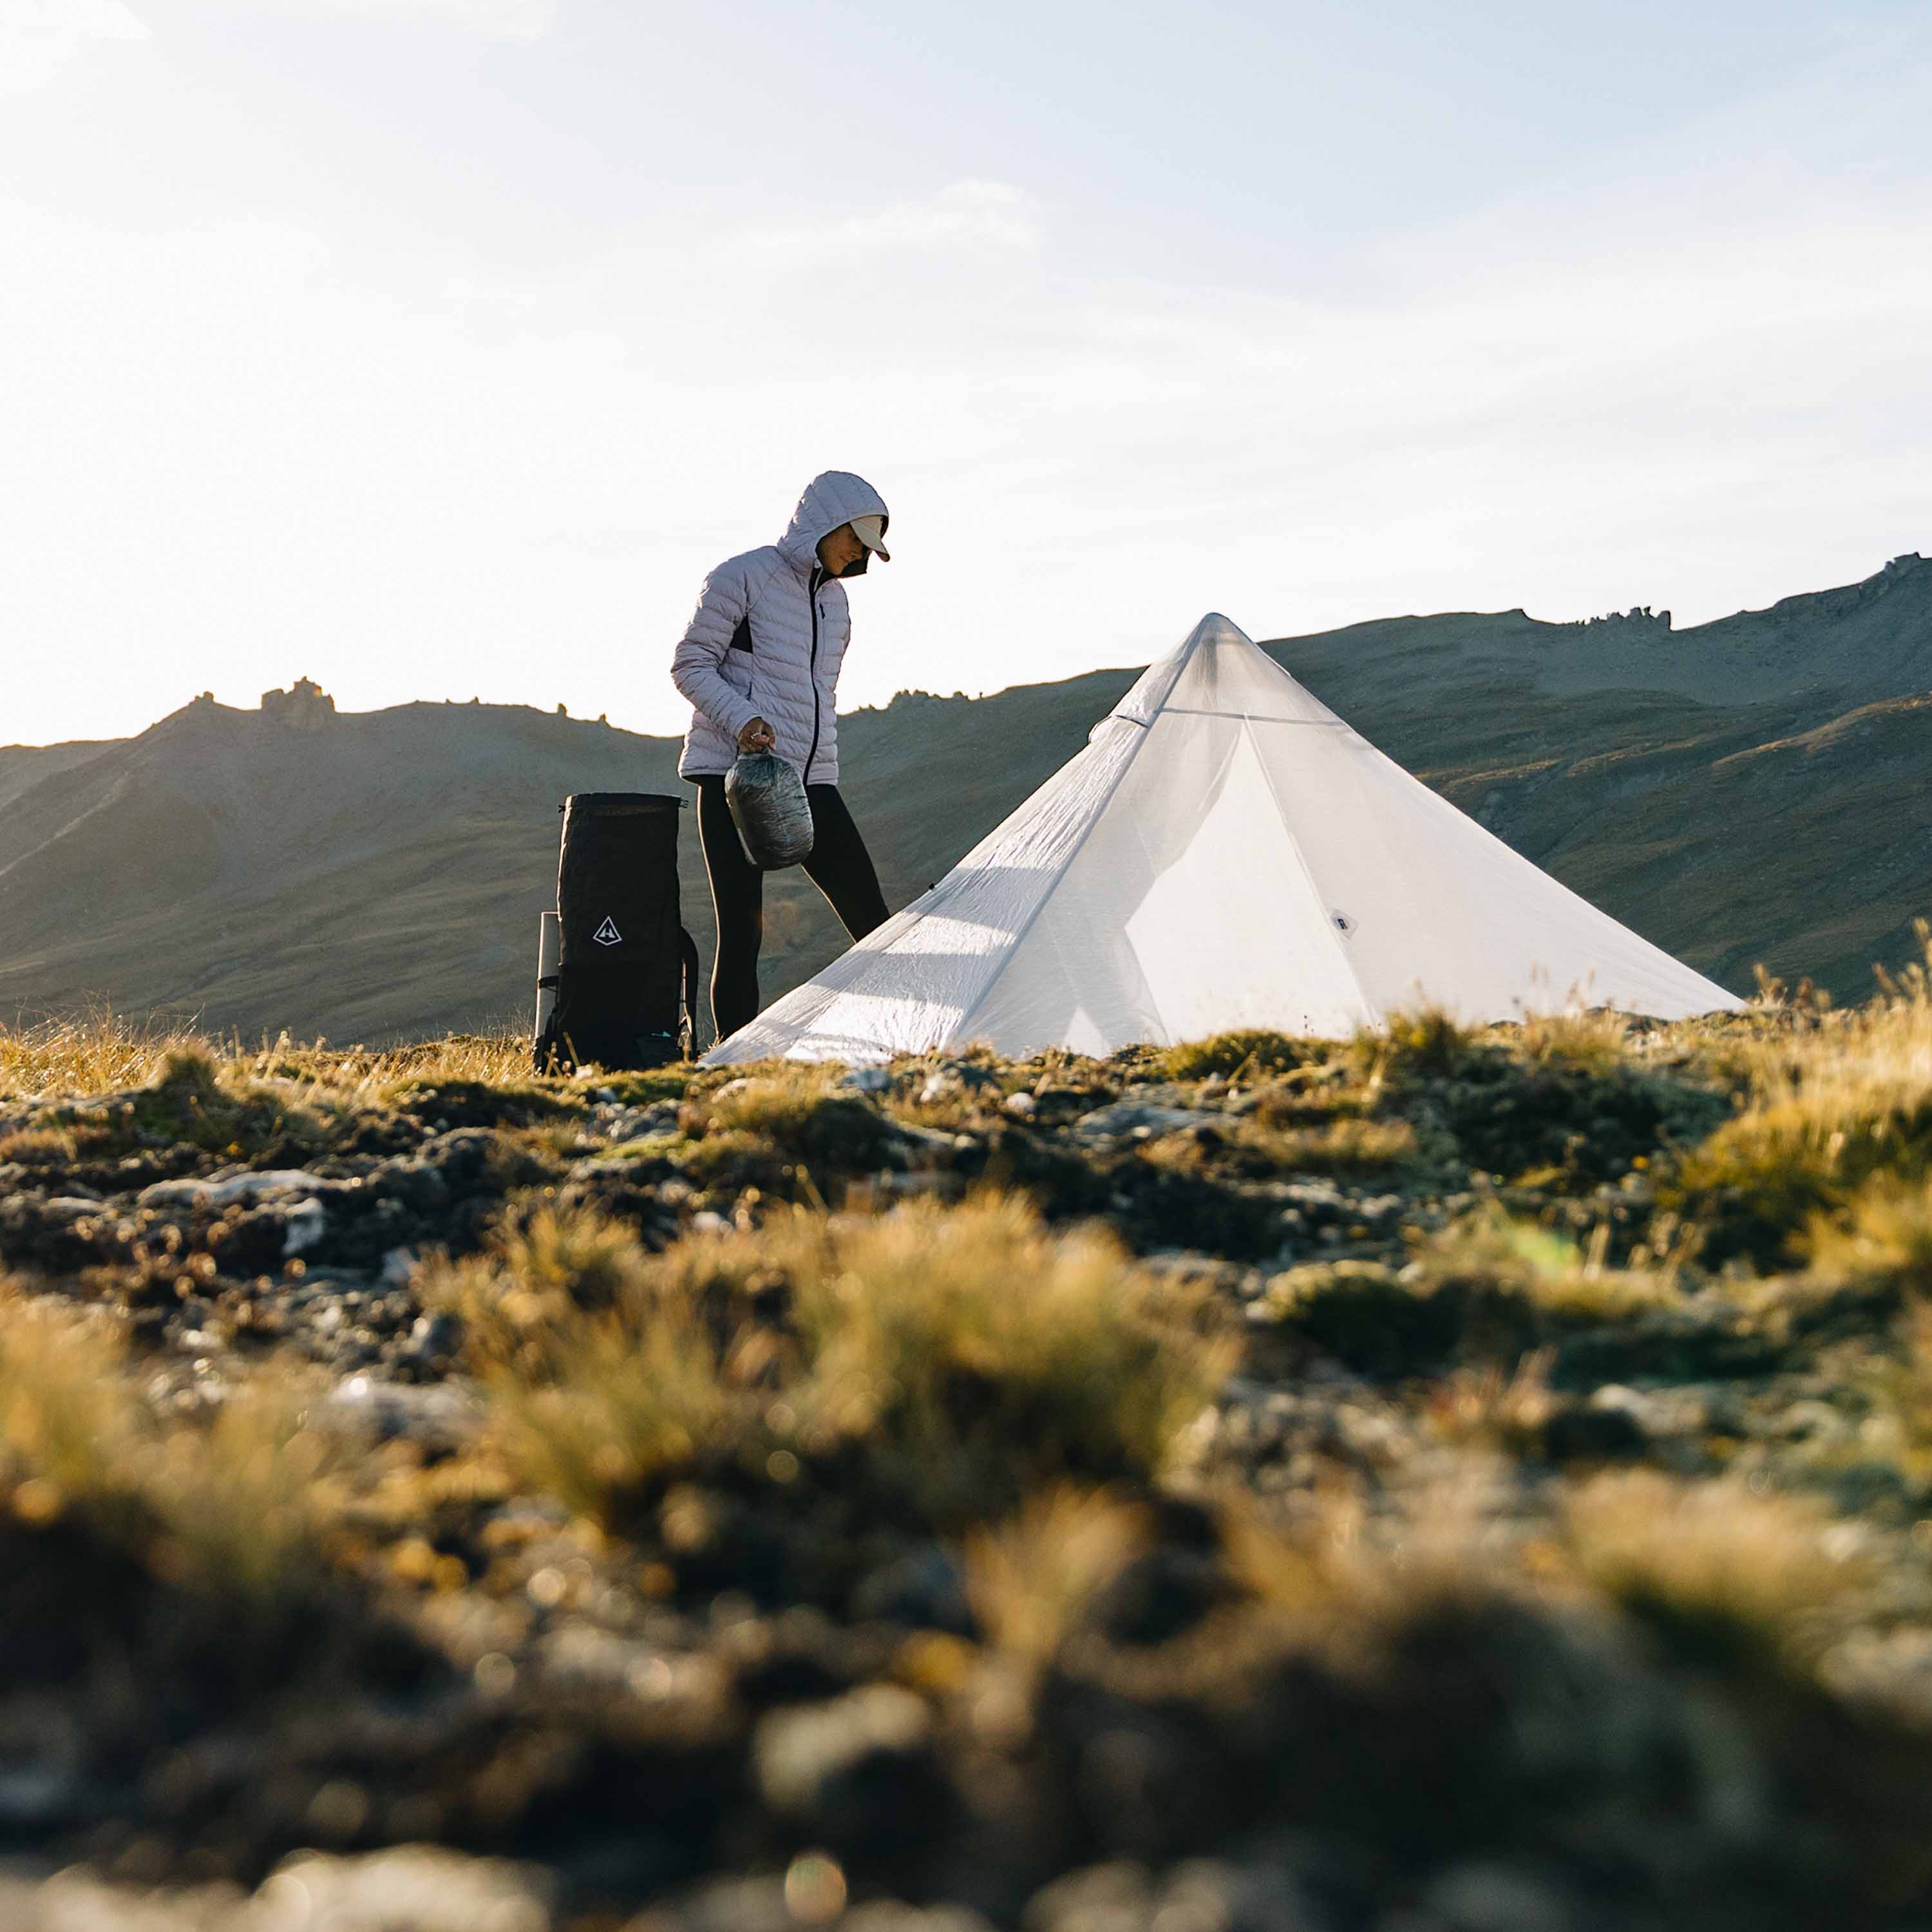
[[[697,611],[670,659],[670,682],[692,701],[678,777],[697,786],[697,837],[711,875],[717,956],[711,1018],[719,1039],[757,1014],[757,949],[765,875],[744,856],[724,802],[740,752],[796,765],[811,800],[813,844],[802,862],[854,939],[885,922],[866,840],[838,796],[838,667],[852,618],[842,578],[860,578],[885,549],[879,493],[844,469],[813,477],[784,535],[705,578]]]

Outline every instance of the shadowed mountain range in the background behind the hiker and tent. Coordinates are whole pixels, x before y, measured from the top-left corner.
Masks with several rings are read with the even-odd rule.
[[[1729,985],[1762,960],[1859,997],[1932,910],[1932,564],[1681,634],[1517,611],[1269,649],[1463,810]],[[846,792],[887,900],[1070,757],[1134,674],[848,715]],[[439,703],[298,728],[197,701],[126,744],[4,752],[0,1012],[93,999],[334,1039],[504,1018],[529,999],[558,800],[682,792],[674,761],[665,738]],[[690,821],[684,904],[709,952]],[[802,875],[771,881],[767,995],[840,945]]]

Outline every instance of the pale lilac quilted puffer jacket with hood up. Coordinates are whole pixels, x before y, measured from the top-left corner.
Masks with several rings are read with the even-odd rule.
[[[885,516],[864,479],[827,469],[806,485],[784,535],[705,578],[670,682],[692,701],[678,777],[730,771],[738,732],[763,719],[806,784],[838,782],[838,667],[852,636],[844,585],[819,564],[819,539],[854,516]]]

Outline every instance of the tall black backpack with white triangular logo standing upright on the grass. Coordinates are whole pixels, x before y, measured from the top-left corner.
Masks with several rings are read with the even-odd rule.
[[[556,860],[556,1007],[537,1070],[665,1066],[696,1047],[697,947],[678,916],[678,813],[659,792],[574,792]]]

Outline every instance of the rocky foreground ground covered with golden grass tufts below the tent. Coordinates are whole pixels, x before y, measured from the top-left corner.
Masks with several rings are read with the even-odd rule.
[[[520,1061],[0,1030],[0,1922],[1932,1915],[1922,976]]]

